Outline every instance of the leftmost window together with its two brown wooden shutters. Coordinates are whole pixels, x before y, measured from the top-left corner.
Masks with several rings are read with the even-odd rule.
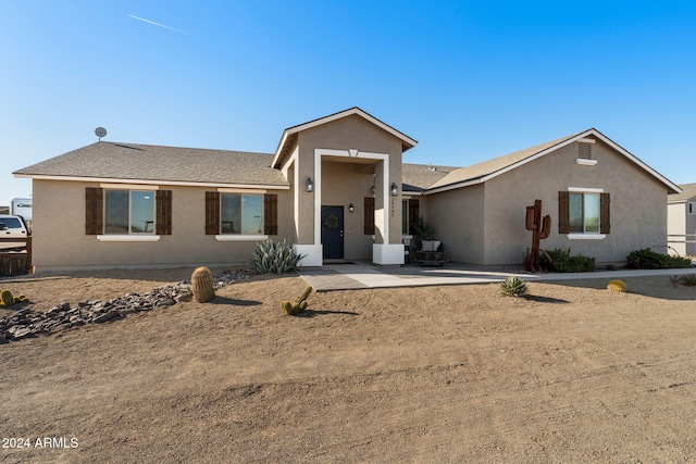
[[[172,191],[87,187],[85,234],[171,235]]]

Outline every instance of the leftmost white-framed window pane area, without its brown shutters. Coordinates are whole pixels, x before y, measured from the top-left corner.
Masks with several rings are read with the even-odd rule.
[[[104,190],[104,235],[154,235],[154,190]]]

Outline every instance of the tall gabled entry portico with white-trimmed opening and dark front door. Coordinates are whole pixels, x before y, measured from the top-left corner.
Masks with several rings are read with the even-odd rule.
[[[301,265],[370,255],[375,264],[403,264],[401,155],[415,145],[359,108],[283,133],[272,167],[293,189]]]

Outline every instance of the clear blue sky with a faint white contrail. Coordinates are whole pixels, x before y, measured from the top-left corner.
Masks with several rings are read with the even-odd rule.
[[[0,0],[0,204],[32,192],[13,171],[98,126],[274,152],[286,127],[352,106],[419,141],[406,162],[596,127],[696,183],[693,1]]]

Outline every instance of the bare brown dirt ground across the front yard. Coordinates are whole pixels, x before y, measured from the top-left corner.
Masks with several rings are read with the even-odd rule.
[[[46,311],[190,272],[0,287]],[[696,462],[696,288],[626,283],[333,291],[287,316],[304,281],[252,277],[0,346],[0,462]]]

